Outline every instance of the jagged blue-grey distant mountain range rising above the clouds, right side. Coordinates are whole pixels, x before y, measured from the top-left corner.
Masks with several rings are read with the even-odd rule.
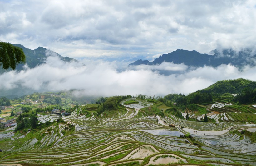
[[[173,62],[175,64],[184,63],[187,66],[196,67],[202,67],[204,65],[217,67],[221,64],[232,64],[238,67],[244,65],[256,65],[256,54],[255,52],[253,52],[252,49],[243,49],[239,52],[236,52],[232,49],[226,49],[222,51],[215,49],[210,53],[213,55],[201,54],[195,50],[188,51],[177,49],[176,51],[173,51],[171,53],[161,55],[153,62],[139,59],[133,63],[130,63],[129,66],[142,64],[156,65],[161,64],[162,62]]]

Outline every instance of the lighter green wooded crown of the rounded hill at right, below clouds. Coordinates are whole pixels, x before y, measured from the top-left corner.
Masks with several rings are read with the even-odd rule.
[[[246,87],[255,89],[256,82],[243,79],[243,78],[234,79],[234,80],[223,80],[223,81],[218,81],[213,85],[210,85],[208,88],[205,88],[199,91],[204,93],[213,93],[213,94],[224,94],[224,93],[239,94]]]

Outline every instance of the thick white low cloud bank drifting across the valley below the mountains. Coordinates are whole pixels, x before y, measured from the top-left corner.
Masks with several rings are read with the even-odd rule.
[[[36,91],[83,89],[80,95],[156,95],[189,94],[219,80],[246,78],[256,81],[256,67],[245,66],[242,71],[233,65],[217,68],[205,66],[192,69],[184,64],[163,63],[157,66],[138,66],[117,71],[117,62],[63,62],[48,57],[47,64],[35,68],[10,71],[0,75],[0,89],[30,88]],[[183,71],[160,74],[157,70]]]

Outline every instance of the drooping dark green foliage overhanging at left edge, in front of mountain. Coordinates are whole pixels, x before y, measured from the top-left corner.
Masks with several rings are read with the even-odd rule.
[[[17,64],[25,62],[26,56],[22,48],[10,43],[0,42],[0,66],[3,69],[15,69]]]

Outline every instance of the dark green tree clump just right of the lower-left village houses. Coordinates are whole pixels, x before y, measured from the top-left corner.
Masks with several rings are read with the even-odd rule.
[[[24,128],[36,128],[37,126],[37,117],[34,111],[31,113],[22,113],[18,116],[16,119],[17,127],[15,128],[15,131],[22,130]]]

